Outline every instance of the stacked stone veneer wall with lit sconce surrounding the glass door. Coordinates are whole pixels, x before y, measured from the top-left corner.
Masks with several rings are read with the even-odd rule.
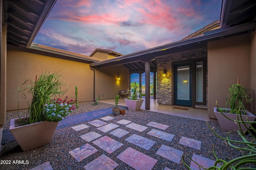
[[[177,61],[187,61],[192,59],[206,58],[206,105],[196,105],[197,108],[207,108],[208,106],[208,73],[207,73],[207,49],[165,55],[157,58],[157,102],[158,104],[172,103],[172,63]],[[167,70],[167,77],[163,77],[164,69]]]

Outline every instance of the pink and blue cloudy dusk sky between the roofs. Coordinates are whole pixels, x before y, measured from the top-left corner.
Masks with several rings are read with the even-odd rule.
[[[220,19],[222,0],[57,0],[34,43],[123,55],[179,41]]]

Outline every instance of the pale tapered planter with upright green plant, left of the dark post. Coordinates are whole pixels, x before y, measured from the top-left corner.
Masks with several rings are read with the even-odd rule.
[[[128,90],[130,92],[130,96],[127,99],[124,99],[126,106],[129,110],[139,110],[142,106],[144,99],[141,98],[141,87],[137,86],[135,82],[135,86],[133,91]]]

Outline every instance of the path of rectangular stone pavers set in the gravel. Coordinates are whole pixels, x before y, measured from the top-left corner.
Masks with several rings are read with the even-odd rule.
[[[109,121],[109,120],[112,120],[115,118],[106,116],[106,117],[102,117],[101,119],[104,121]],[[94,131],[91,131],[89,133],[81,135],[80,138],[84,139],[86,142],[93,141],[92,143],[94,145],[98,146],[99,147],[98,149],[103,149],[106,152],[108,152],[109,154],[111,154],[112,152],[115,152],[116,150],[118,150],[120,147],[123,146],[122,143],[112,139],[111,137],[116,136],[118,138],[125,138],[125,141],[131,143],[131,145],[129,145],[130,147],[128,147],[122,153],[120,153],[118,156],[116,156],[116,158],[118,158],[119,160],[128,164],[129,166],[131,166],[132,168],[134,168],[136,170],[151,170],[154,167],[154,165],[157,162],[156,159],[154,159],[138,150],[133,149],[132,146],[136,145],[145,150],[150,150],[150,148],[156,143],[156,141],[142,137],[137,134],[132,134],[132,135],[129,135],[129,137],[125,137],[127,134],[134,132],[133,130],[136,130],[136,131],[138,131],[138,133],[140,133],[140,132],[143,132],[144,130],[148,129],[148,127],[146,127],[144,125],[132,123],[132,121],[128,121],[125,119],[115,122],[119,125],[117,125],[115,123],[106,123],[104,121],[94,120],[94,121],[89,121],[87,123],[89,123],[92,126],[98,127],[97,129],[104,133],[108,132],[105,134],[105,136],[102,137],[102,135],[100,135]],[[148,135],[160,138],[160,139],[170,142],[170,143],[172,142],[174,135],[164,132],[164,130],[166,130],[169,127],[169,125],[164,125],[164,124],[157,123],[157,122],[150,122],[146,125],[149,126],[151,129],[147,133]],[[122,129],[122,127],[124,127],[124,126],[130,128],[131,130],[126,131],[127,129],[126,130]],[[80,130],[86,129],[88,127],[89,127],[88,125],[80,124],[80,125],[73,126],[72,129],[74,129],[75,131],[80,131]],[[157,128],[160,130],[152,129],[152,128]],[[181,137],[178,144],[184,145],[186,147],[198,149],[198,150],[201,149],[201,141],[197,141],[197,140],[190,139],[187,137]],[[85,158],[87,158],[88,156],[96,153],[98,151],[98,149],[92,147],[92,145],[87,143],[81,147],[78,147],[78,148],[75,148],[75,149],[69,151],[69,153],[74,157],[74,159],[76,159],[78,162],[80,162],[80,161],[84,160]],[[162,158],[165,158],[166,160],[170,160],[172,162],[180,164],[181,157],[184,154],[184,152],[182,150],[174,149],[174,148],[166,146],[166,145],[161,145],[161,147],[155,152],[155,154],[161,156]],[[202,165],[206,168],[213,166],[214,162],[215,162],[214,160],[210,160],[208,158],[204,158],[204,157],[196,155],[196,154],[193,154],[192,160],[196,160],[196,162],[198,162],[200,165]],[[98,156],[98,158],[89,162],[88,164],[83,165],[83,167],[86,170],[101,170],[101,169],[113,170],[118,165],[119,164],[116,163],[114,160],[112,160],[105,154],[102,154],[102,155]],[[42,167],[46,167],[47,170],[52,169],[50,163],[46,162],[44,164],[41,164],[41,165],[33,168],[32,170],[39,170]],[[193,161],[191,161],[191,163],[190,163],[190,168],[193,170],[199,170],[198,165],[195,164]],[[170,170],[170,168],[168,168],[168,167],[162,167],[161,169]]]

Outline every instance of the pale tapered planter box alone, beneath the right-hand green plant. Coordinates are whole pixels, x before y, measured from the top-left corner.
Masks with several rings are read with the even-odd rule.
[[[237,115],[234,113],[224,113],[224,112],[223,112],[224,115],[222,115],[222,113],[220,113],[217,110],[218,110],[217,107],[214,107],[214,113],[218,119],[221,129],[224,131],[232,131],[237,133],[237,131],[239,130],[238,123],[231,121],[224,116],[226,115],[230,119],[237,120]],[[250,111],[247,111],[246,113],[247,115],[242,115],[243,121],[247,121],[246,118],[248,118],[249,121],[254,121],[256,116],[252,114]],[[238,117],[238,120],[241,120],[240,117]],[[246,127],[242,123],[240,123],[240,125],[241,125],[242,132],[246,131],[246,127],[250,127],[248,123],[246,123]]]

